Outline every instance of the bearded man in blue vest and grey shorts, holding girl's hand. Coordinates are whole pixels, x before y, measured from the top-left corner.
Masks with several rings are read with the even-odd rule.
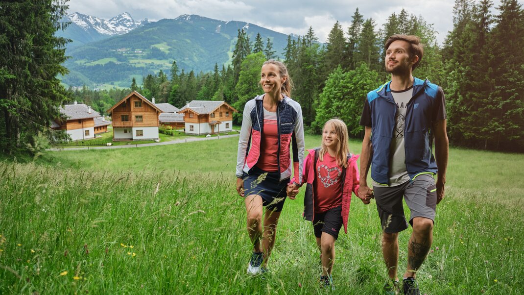
[[[385,53],[391,81],[367,94],[360,122],[365,136],[358,198],[369,200],[374,194],[383,228],[382,253],[391,279],[384,289],[386,294],[397,294],[398,233],[408,228],[403,196],[413,227],[403,291],[418,295],[417,270],[431,247],[436,204],[444,198],[448,155],[445,100],[438,85],[411,74],[422,59],[419,37],[393,35],[386,41]],[[373,190],[367,184],[370,165]]]

